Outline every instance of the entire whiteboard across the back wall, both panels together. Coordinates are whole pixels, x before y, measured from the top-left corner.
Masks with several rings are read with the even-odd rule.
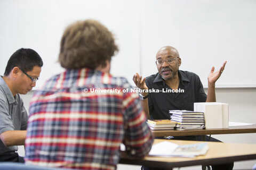
[[[119,46],[111,74],[130,83],[136,72],[155,74],[157,50],[170,45],[180,53],[180,70],[198,74],[204,87],[211,67],[224,61],[216,87],[256,87],[255,8],[254,0],[0,0],[0,74],[15,50],[32,48],[44,62],[41,86],[63,71],[57,60],[67,25],[95,19]]]

